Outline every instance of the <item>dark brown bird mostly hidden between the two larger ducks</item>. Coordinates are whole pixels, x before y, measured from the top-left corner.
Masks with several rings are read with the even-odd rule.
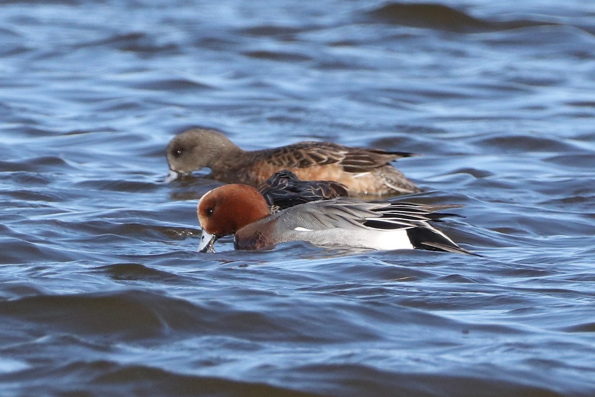
[[[334,180],[300,180],[292,171],[281,170],[256,189],[274,212],[310,201],[347,197],[347,187]]]

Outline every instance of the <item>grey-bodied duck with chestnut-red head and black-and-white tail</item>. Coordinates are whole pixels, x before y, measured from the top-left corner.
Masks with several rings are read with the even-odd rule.
[[[236,249],[259,249],[288,241],[336,248],[406,249],[471,254],[431,222],[455,214],[435,213],[458,205],[365,202],[339,197],[312,201],[271,213],[258,190],[224,185],[202,196],[198,220],[200,252],[214,252],[215,241],[235,235]]]

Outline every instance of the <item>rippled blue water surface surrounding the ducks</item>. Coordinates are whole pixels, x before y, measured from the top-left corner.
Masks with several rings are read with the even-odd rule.
[[[0,3],[2,396],[595,395],[591,1]],[[421,154],[471,257],[198,254],[187,127]]]

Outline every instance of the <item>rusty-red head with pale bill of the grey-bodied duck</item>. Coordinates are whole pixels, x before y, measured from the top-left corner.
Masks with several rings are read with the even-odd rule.
[[[233,235],[242,227],[270,215],[267,201],[248,185],[224,185],[205,193],[196,208],[202,227],[199,251],[212,251],[219,237]]]

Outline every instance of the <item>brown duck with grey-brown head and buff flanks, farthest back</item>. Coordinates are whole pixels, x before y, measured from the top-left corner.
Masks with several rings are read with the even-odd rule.
[[[330,142],[299,142],[280,148],[244,151],[221,132],[187,130],[167,146],[167,181],[211,168],[213,179],[257,186],[286,169],[302,180],[334,180],[350,194],[398,195],[421,191],[389,163],[414,154],[350,148]]]

